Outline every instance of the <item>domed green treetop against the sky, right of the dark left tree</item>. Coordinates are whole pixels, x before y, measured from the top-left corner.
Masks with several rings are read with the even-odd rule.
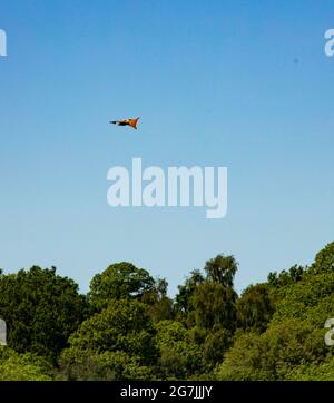
[[[94,276],[88,299],[95,311],[101,311],[112,299],[140,299],[154,285],[154,278],[144,268],[127,262],[116,263]]]

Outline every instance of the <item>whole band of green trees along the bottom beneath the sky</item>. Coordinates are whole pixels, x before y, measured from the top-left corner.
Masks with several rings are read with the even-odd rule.
[[[87,295],[55,267],[0,271],[0,380],[334,380],[334,243],[242,295],[236,272],[218,255],[171,299],[166,279],[125,262]]]

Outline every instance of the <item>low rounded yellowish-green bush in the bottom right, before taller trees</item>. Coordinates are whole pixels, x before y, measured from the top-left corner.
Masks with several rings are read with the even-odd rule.
[[[286,380],[295,367],[315,365],[326,357],[323,334],[297,320],[273,325],[261,335],[246,333],[227,353],[217,379]]]

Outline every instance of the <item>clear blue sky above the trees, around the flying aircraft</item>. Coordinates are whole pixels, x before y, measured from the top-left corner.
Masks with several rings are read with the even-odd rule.
[[[1,0],[0,267],[167,277],[234,254],[240,291],[334,240],[333,1]],[[108,125],[141,116],[140,130]],[[228,167],[228,213],[107,205],[107,170]]]

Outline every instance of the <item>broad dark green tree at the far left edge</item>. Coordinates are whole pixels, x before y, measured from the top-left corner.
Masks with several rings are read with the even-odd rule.
[[[7,322],[8,344],[17,352],[56,358],[87,308],[77,284],[58,276],[55,267],[0,274],[0,317]]]

